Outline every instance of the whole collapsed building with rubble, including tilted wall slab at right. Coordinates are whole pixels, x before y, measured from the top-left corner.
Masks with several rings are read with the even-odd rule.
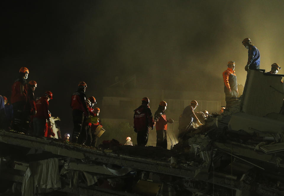
[[[2,195],[284,195],[283,75],[249,70],[230,108],[171,150],[0,131]]]

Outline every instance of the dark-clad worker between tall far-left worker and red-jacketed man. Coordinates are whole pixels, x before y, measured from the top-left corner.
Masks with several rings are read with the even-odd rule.
[[[37,83],[34,80],[31,80],[28,83],[28,92],[27,92],[27,103],[24,109],[24,122],[23,122],[23,131],[25,134],[28,133],[30,123],[32,122],[32,115],[36,114],[35,108],[35,88],[37,87]],[[33,126],[31,126],[33,127]],[[30,130],[31,131],[31,130]],[[32,133],[32,132],[30,132]]]

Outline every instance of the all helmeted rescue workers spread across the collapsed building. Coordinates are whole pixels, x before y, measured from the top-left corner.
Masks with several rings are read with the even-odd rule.
[[[249,38],[245,38],[242,44],[248,49],[248,62],[245,71],[259,69],[259,50],[251,44]],[[223,72],[226,107],[230,107],[239,94],[234,69],[235,61],[229,61],[227,70]],[[265,74],[277,74],[280,69],[281,67],[277,63],[273,63],[271,71]],[[11,105],[5,96],[0,95],[0,128],[35,137],[54,136],[50,123],[51,113],[48,110],[49,101],[53,98],[53,94],[51,91],[46,91],[42,97],[35,98],[34,92],[37,83],[33,80],[27,82],[28,74],[28,68],[20,68],[18,78],[12,85]],[[102,127],[101,120],[98,118],[100,109],[93,108],[97,103],[96,99],[93,96],[86,97],[86,88],[87,84],[80,82],[77,91],[71,97],[70,106],[74,123],[71,142],[94,147],[98,138],[96,129]],[[206,110],[194,113],[198,105],[196,100],[192,100],[190,105],[183,110],[179,117],[178,138],[183,137],[193,122],[201,125],[204,123],[204,119],[208,117],[209,113]],[[153,117],[149,107],[149,98],[142,98],[141,106],[134,110],[134,131],[137,133],[138,145],[145,146],[147,144],[149,128],[153,129],[155,126],[157,134],[156,146],[167,148],[167,123],[173,123],[174,121],[173,119],[167,120],[166,108],[167,103],[161,101]],[[96,122],[87,121],[90,117],[97,117]],[[69,142],[69,137],[70,134],[68,133],[64,135],[66,142]],[[132,145],[130,137],[127,137],[126,143]]]

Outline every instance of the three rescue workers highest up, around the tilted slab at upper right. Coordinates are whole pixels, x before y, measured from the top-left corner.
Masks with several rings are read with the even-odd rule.
[[[248,71],[249,69],[252,70],[259,69],[259,64],[260,64],[259,50],[254,45],[251,44],[251,40],[249,38],[245,38],[242,41],[242,44],[248,50],[248,62],[245,66],[245,71]],[[226,107],[230,107],[233,104],[233,102],[237,100],[237,96],[239,95],[237,77],[235,74],[235,64],[236,64],[235,61],[229,61],[227,64],[227,70],[223,72]],[[265,72],[264,74],[265,75],[277,74],[280,69],[281,67],[279,67],[277,63],[273,63],[271,65],[271,71]]]

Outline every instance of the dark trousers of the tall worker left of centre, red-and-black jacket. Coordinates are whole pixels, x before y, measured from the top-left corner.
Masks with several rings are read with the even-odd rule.
[[[82,130],[82,125],[84,121],[84,112],[81,110],[73,110],[72,111],[73,116],[73,133],[72,133],[72,142],[77,142],[78,136]]]

